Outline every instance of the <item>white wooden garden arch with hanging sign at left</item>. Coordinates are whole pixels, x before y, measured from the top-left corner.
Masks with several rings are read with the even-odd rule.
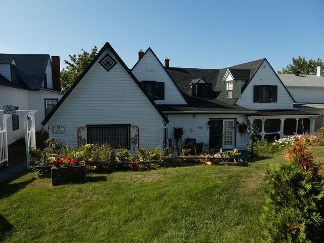
[[[25,130],[25,144],[26,144],[26,160],[27,169],[30,167],[29,148],[36,146],[35,139],[35,113],[37,110],[16,110],[15,113],[24,120]],[[7,163],[8,166],[8,139],[7,139],[7,119],[13,114],[6,114],[0,110],[0,117],[2,116],[2,125],[0,127],[0,165]],[[30,124],[28,124],[30,120]],[[1,124],[1,123],[0,123]]]

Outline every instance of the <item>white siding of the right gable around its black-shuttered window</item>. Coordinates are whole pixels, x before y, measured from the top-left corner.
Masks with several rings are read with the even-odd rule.
[[[263,65],[265,64],[265,68]],[[255,85],[276,85],[278,86],[277,102],[273,103],[254,103],[254,86]],[[248,87],[244,90],[241,97],[236,102],[237,105],[249,109],[293,109],[294,101],[280,82],[279,78],[273,72],[267,61],[264,61],[254,75]]]

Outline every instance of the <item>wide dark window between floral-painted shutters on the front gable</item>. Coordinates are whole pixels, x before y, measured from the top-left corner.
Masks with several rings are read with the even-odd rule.
[[[114,148],[130,147],[130,125],[89,125],[87,127],[89,143],[111,144]]]

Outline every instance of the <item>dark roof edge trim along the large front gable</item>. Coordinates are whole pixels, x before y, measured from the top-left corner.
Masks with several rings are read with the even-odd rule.
[[[63,95],[63,97],[59,100],[57,105],[51,110],[51,112],[45,117],[45,119],[42,121],[43,125],[46,125],[49,119],[54,115],[54,113],[57,111],[57,109],[62,105],[62,103],[65,101],[65,99],[69,96],[69,94],[72,92],[72,90],[78,85],[78,83],[82,80],[82,78],[86,75],[86,73],[90,70],[90,68],[97,62],[98,58],[102,55],[102,53],[109,49],[112,54],[115,56],[117,61],[120,63],[121,66],[124,67],[124,69],[128,72],[128,74],[131,76],[135,84],[141,89],[142,93],[146,96],[146,98],[151,102],[151,104],[154,106],[154,108],[157,110],[157,112],[160,114],[160,116],[164,119],[166,123],[169,123],[168,118],[163,114],[163,112],[157,107],[155,102],[152,100],[152,98],[145,92],[143,87],[140,85],[137,78],[134,76],[134,74],[131,72],[131,70],[126,66],[123,60],[119,57],[119,55],[115,52],[115,50],[111,47],[111,45],[106,42],[106,44],[100,49],[100,51],[97,53],[97,55],[94,57],[94,59],[89,63],[89,65],[85,68],[85,70],[80,74],[80,76],[74,81],[73,85],[68,89],[68,91]]]

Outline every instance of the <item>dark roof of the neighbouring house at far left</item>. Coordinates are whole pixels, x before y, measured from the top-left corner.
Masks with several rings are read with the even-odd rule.
[[[42,87],[46,66],[50,59],[48,54],[0,53],[1,59],[15,59],[17,85],[13,85],[12,87],[29,90],[39,90]]]

